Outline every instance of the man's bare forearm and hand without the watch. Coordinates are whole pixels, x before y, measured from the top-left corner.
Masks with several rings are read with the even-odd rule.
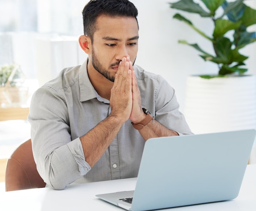
[[[120,62],[110,96],[111,114],[80,137],[85,161],[92,167],[101,158],[132,110],[132,72],[126,58]]]

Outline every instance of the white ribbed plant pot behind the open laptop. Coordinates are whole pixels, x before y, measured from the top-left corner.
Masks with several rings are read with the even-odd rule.
[[[195,134],[256,129],[256,76],[189,76],[184,115]]]

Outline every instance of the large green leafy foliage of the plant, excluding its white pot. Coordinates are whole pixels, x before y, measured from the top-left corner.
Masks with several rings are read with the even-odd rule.
[[[248,7],[244,0],[236,0],[227,2],[226,0],[201,0],[207,7],[204,10],[200,4],[193,0],[180,0],[170,3],[171,8],[199,14],[202,18],[209,18],[213,21],[214,29],[212,35],[208,36],[202,30],[198,29],[193,23],[179,13],[173,18],[183,21],[203,38],[212,43],[214,54],[208,53],[202,49],[197,43],[189,44],[186,40],[179,40],[179,43],[190,45],[200,52],[200,56],[205,61],[211,61],[218,65],[218,74],[202,75],[204,78],[222,77],[229,74],[244,74],[247,71],[244,61],[248,56],[240,54],[240,49],[256,41],[255,32],[248,32],[247,27],[256,24],[256,10]],[[222,13],[217,15],[217,10],[222,9]],[[228,36],[232,31],[233,38]]]

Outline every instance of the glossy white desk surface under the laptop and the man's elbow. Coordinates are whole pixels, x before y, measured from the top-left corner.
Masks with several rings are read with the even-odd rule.
[[[136,178],[70,185],[63,191],[49,188],[11,191],[0,195],[1,211],[113,211],[123,209],[101,201],[95,195],[132,190]],[[166,209],[165,209],[166,210]],[[255,211],[256,165],[248,165],[238,197],[231,201],[167,209],[171,211]]]

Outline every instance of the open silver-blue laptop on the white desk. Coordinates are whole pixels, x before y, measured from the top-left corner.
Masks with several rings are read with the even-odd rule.
[[[255,136],[240,130],[148,139],[135,191],[96,196],[132,211],[232,200]]]

